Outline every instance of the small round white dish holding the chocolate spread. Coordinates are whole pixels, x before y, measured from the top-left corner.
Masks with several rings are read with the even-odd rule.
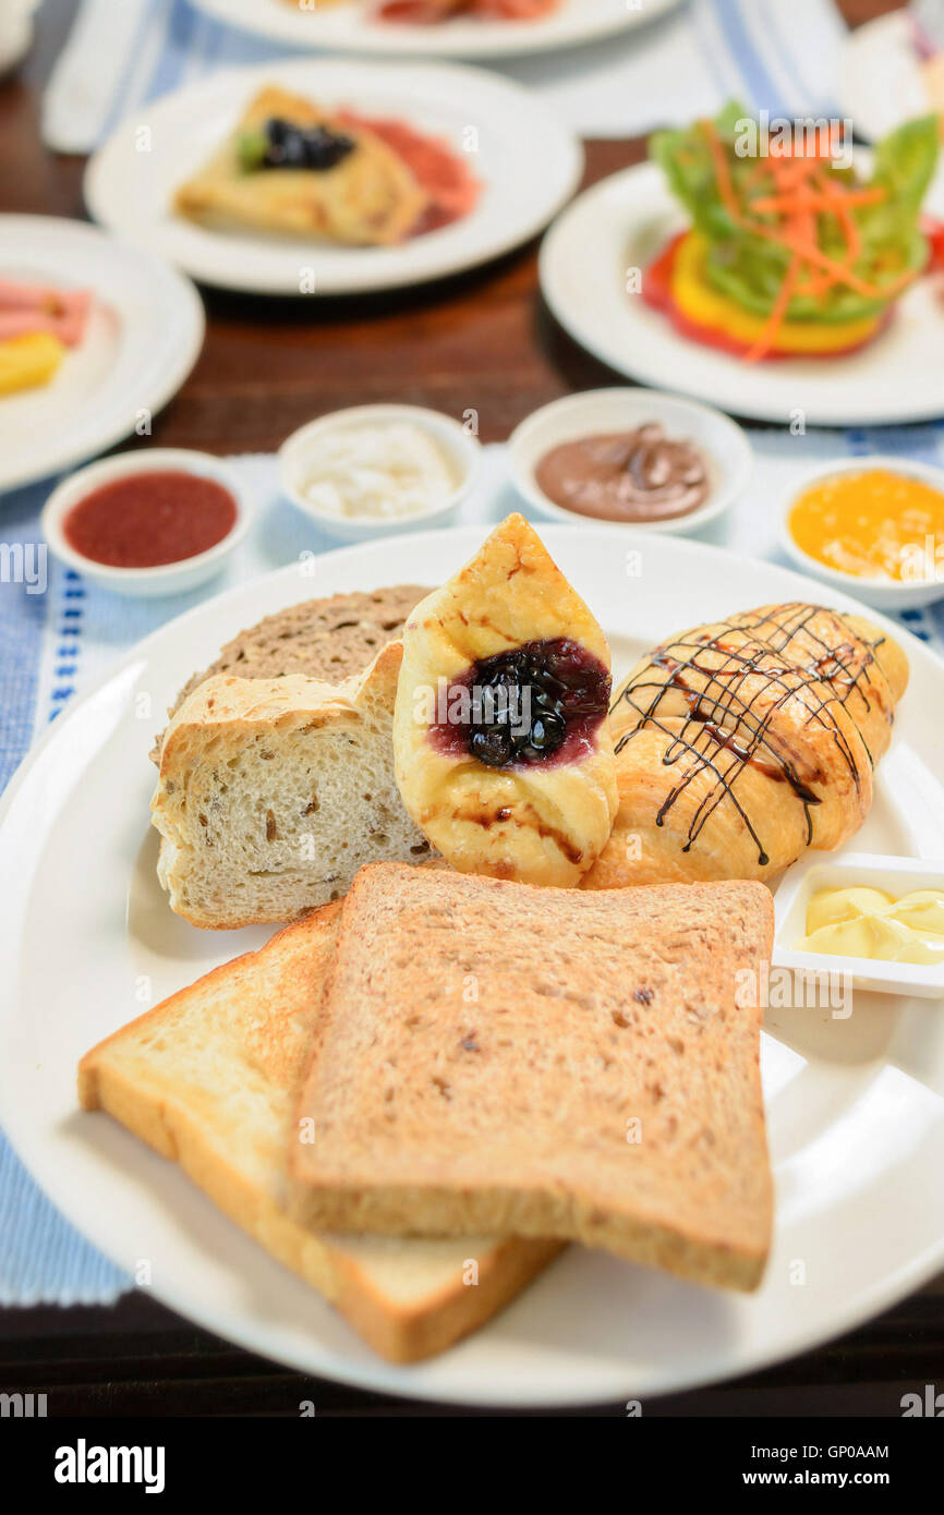
[[[603,521],[556,504],[539,488],[535,473],[553,447],[599,432],[627,432],[645,421],[659,421],[673,441],[694,442],[705,454],[711,489],[697,511],[670,521]],[[515,427],[509,453],[515,489],[536,511],[570,526],[617,526],[627,532],[694,532],[744,494],[753,471],[752,445],[736,421],[708,405],[659,389],[588,389],[553,400]]]

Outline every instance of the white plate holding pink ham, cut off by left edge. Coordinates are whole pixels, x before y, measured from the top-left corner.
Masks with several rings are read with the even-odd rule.
[[[200,355],[203,305],[155,253],[52,215],[0,217],[0,276],[95,297],[53,382],[0,398],[3,492],[114,447],[167,405]]]

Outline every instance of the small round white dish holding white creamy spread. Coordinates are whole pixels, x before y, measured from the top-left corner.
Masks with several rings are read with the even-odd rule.
[[[411,515],[338,515],[324,511],[305,492],[308,471],[314,467],[318,442],[341,429],[409,423],[427,432],[447,456],[456,477],[450,497],[427,511]],[[308,426],[299,427],[279,448],[279,479],[282,491],[323,532],[339,542],[368,542],[374,536],[400,535],[429,526],[447,526],[468,498],[482,473],[482,444],[461,421],[441,411],[420,405],[356,405],[347,411],[332,411]]]

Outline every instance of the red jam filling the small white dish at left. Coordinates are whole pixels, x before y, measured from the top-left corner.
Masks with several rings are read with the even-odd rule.
[[[68,545],[109,568],[158,568],[205,553],[236,524],[236,501],[214,479],[127,474],[86,494],[62,521]]]

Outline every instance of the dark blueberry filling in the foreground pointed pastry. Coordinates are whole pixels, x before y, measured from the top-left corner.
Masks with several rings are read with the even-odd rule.
[[[488,768],[567,762],[609,709],[609,673],[567,636],[482,658],[439,691],[432,739]]]

